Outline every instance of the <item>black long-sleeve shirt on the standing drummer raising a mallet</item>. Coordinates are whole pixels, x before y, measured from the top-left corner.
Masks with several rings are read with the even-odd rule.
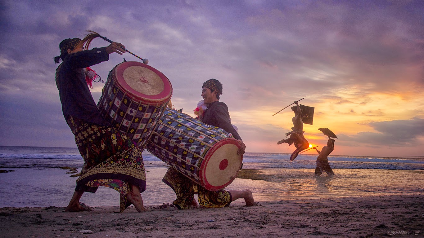
[[[67,55],[56,70],[56,85],[65,118],[75,116],[86,122],[108,125],[100,115],[85,80],[83,68],[109,60],[106,47]]]

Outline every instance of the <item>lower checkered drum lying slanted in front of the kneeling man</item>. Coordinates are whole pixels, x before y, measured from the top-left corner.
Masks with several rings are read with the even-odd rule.
[[[146,149],[204,188],[228,186],[241,169],[241,144],[219,127],[167,108]]]

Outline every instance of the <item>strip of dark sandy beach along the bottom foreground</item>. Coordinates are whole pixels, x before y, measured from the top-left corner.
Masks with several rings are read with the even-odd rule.
[[[169,204],[137,213],[118,207],[64,212],[64,207],[0,208],[6,237],[423,237],[424,195],[259,202],[245,207],[177,210]],[[85,233],[85,234],[84,234]],[[415,234],[414,234],[415,233]],[[417,236],[415,236],[417,235]]]

